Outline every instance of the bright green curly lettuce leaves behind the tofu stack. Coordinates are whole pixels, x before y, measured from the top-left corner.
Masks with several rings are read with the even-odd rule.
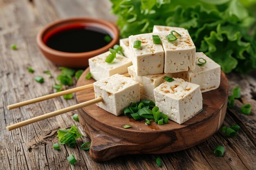
[[[120,35],[152,32],[154,25],[189,30],[197,51],[225,73],[256,69],[256,0],[110,0]],[[250,7],[248,10],[245,6]]]

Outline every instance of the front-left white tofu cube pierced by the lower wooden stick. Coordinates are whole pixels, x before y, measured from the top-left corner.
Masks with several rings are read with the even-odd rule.
[[[131,102],[139,102],[139,82],[130,77],[115,74],[94,82],[93,86],[95,98],[103,98],[103,102],[96,105],[113,115],[121,115]]]

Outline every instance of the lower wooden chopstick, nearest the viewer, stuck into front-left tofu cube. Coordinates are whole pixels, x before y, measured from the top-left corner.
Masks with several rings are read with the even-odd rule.
[[[13,130],[13,129],[16,129],[16,128],[20,128],[22,126],[26,126],[28,124],[35,123],[35,122],[40,121],[40,120],[48,119],[50,117],[61,115],[63,113],[67,113],[67,112],[70,112],[72,110],[76,110],[76,109],[79,109],[79,108],[90,106],[92,104],[96,104],[96,103],[99,103],[99,102],[103,102],[103,98],[102,97],[98,97],[96,99],[92,99],[92,100],[89,100],[89,101],[86,101],[86,102],[83,102],[83,103],[80,103],[80,104],[76,104],[74,106],[70,106],[70,107],[67,107],[67,108],[56,110],[56,111],[51,112],[51,113],[46,113],[44,115],[40,115],[40,116],[31,118],[31,119],[27,119],[25,121],[21,121],[19,123],[7,126],[6,129],[8,131],[10,131],[10,130]]]

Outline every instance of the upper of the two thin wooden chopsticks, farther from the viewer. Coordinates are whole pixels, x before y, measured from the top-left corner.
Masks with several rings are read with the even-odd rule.
[[[123,75],[126,76],[126,77],[130,77],[130,75],[128,73],[124,73]],[[58,93],[53,93],[53,94],[50,94],[50,95],[37,97],[37,98],[30,99],[30,100],[27,100],[27,101],[24,101],[24,102],[11,104],[11,105],[7,106],[7,108],[8,108],[8,110],[11,110],[13,108],[18,108],[18,107],[21,107],[21,106],[26,106],[26,105],[29,105],[29,104],[41,102],[41,101],[44,101],[44,100],[52,99],[54,97],[59,97],[59,96],[67,95],[67,94],[70,94],[70,93],[83,91],[87,88],[92,88],[92,87],[93,87],[93,84],[87,84],[87,85],[84,85],[84,86],[80,86],[80,87],[71,88],[71,89],[68,89],[68,90],[65,90],[65,91],[61,91],[61,92],[58,92]]]

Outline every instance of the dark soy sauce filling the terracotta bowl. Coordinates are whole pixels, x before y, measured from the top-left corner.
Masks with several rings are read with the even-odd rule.
[[[48,33],[43,41],[57,51],[83,53],[106,46],[109,43],[106,36],[110,35],[96,27],[72,25]]]

